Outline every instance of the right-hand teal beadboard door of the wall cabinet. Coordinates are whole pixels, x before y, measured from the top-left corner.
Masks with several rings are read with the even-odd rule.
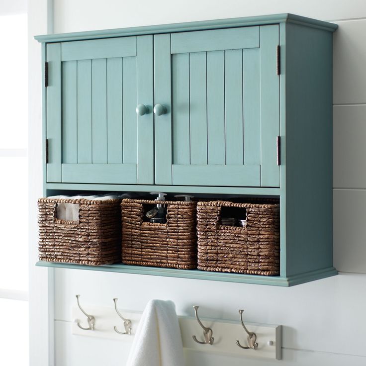
[[[279,186],[278,25],[154,36],[157,184]]]

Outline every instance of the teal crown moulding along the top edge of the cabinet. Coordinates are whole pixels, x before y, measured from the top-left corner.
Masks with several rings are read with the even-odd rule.
[[[67,41],[78,41],[86,39],[122,37],[122,36],[143,35],[143,34],[159,34],[159,33],[171,33],[171,32],[186,32],[192,30],[232,28],[232,27],[243,27],[243,26],[276,24],[276,23],[295,23],[308,27],[327,30],[330,32],[334,32],[338,28],[337,24],[325,22],[322,20],[311,19],[304,16],[294,14],[272,14],[264,16],[250,16],[245,18],[216,19],[216,20],[194,21],[187,23],[149,25],[149,26],[132,27],[132,28],[93,30],[88,32],[74,32],[74,33],[48,34],[48,35],[46,34],[46,35],[35,36],[34,38],[38,42],[47,42],[47,43],[67,42]]]

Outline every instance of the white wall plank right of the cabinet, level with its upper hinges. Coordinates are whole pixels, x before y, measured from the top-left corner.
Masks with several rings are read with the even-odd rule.
[[[366,19],[338,25],[333,38],[333,102],[366,103]]]

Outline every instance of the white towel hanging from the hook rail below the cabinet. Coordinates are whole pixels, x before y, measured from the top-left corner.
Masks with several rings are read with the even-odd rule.
[[[127,366],[184,366],[181,330],[173,301],[148,302]]]

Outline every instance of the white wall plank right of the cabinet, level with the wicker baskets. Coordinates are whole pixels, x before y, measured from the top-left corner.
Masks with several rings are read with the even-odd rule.
[[[335,189],[333,212],[334,266],[366,274],[366,190]]]

